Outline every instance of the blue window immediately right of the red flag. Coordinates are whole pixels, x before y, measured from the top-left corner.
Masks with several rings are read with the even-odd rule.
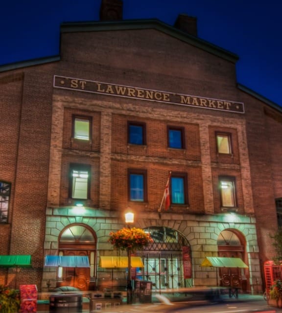
[[[185,204],[187,203],[186,192],[187,190],[187,176],[186,174],[172,174],[170,181],[171,188],[171,203]]]

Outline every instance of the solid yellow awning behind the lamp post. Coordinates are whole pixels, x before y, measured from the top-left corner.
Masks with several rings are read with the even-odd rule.
[[[141,257],[132,256],[131,258],[132,268],[143,268],[143,262]],[[128,258],[127,256],[100,256],[99,262],[100,268],[127,268]]]

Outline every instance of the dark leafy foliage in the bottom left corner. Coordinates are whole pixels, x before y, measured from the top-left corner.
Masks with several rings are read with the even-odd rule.
[[[17,313],[20,310],[20,291],[0,285],[0,312]]]

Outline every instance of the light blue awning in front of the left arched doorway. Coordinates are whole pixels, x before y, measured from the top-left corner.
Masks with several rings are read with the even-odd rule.
[[[88,256],[46,255],[44,266],[62,268],[90,268]]]

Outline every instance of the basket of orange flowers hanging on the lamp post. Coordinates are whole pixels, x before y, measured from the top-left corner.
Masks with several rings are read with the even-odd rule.
[[[144,232],[141,228],[125,228],[110,233],[109,243],[115,249],[131,251],[141,250],[143,247],[153,243],[149,233]]]

